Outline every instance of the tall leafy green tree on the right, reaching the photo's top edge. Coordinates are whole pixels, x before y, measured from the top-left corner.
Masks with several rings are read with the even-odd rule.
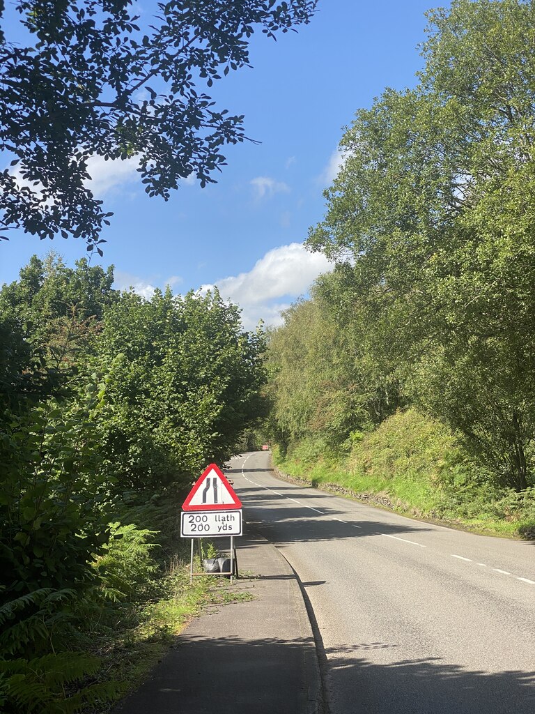
[[[522,489],[535,467],[535,3],[454,0],[429,21],[419,84],[384,91],[345,133],[309,246],[345,263],[412,400]]]

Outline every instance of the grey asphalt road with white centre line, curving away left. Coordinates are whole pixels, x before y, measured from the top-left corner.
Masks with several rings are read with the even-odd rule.
[[[269,464],[245,454],[226,473],[310,600],[330,714],[535,713],[535,544],[294,486]]]

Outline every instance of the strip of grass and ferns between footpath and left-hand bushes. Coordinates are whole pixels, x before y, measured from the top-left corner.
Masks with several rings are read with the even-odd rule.
[[[91,683],[115,681],[123,685],[116,699],[88,706],[84,714],[110,712],[118,700],[141,685],[173,646],[175,636],[204,608],[253,599],[250,593],[228,588],[226,578],[198,576],[190,584],[190,541],[180,538],[176,513],[180,513],[180,509],[175,499],[164,497],[156,506],[151,503],[129,509],[121,518],[123,523],[134,519],[136,533],[141,533],[146,526],[156,529],[156,532],[143,532],[154,533],[153,539],[158,545],[151,543],[154,545],[151,559],[134,572],[132,562],[136,560],[136,548],[125,538],[118,540],[108,555],[111,573],[106,570],[105,585],[110,581],[120,584],[121,568],[128,566],[128,575],[137,583],[136,587],[126,600],[101,602],[98,607],[86,602],[85,613],[80,613],[84,622],[80,644],[101,658],[102,663],[96,680]],[[213,544],[205,539],[203,542],[205,550],[215,551]],[[136,547],[139,551],[139,544]],[[127,553],[126,563],[119,557],[121,553]],[[139,553],[137,560],[141,560]],[[198,556],[196,560],[194,568],[198,572],[202,566]]]

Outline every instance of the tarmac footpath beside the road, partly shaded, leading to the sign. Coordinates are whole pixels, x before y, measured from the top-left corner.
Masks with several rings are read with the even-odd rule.
[[[315,642],[297,578],[264,538],[237,545],[240,578],[228,588],[254,599],[192,620],[114,714],[321,713]]]

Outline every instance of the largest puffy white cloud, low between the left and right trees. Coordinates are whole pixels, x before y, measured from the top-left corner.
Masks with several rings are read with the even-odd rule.
[[[217,281],[221,296],[243,309],[243,325],[253,329],[260,319],[269,325],[281,323],[280,311],[292,299],[306,293],[320,273],[332,268],[322,253],[309,253],[302,243],[273,248],[248,273]],[[203,285],[205,292],[213,285]]]

